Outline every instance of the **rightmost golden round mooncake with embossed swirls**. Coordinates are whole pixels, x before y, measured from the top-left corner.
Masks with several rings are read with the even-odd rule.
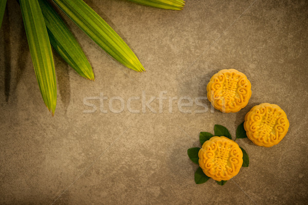
[[[246,135],[258,146],[277,145],[287,133],[289,126],[285,112],[275,104],[262,103],[245,115]]]

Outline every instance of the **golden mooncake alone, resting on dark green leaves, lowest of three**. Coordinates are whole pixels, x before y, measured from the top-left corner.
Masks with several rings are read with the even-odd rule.
[[[243,164],[243,152],[238,144],[224,136],[214,136],[204,142],[198,155],[204,174],[216,181],[234,177]]]

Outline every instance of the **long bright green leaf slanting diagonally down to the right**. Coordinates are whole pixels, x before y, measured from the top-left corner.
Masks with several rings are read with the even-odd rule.
[[[95,43],[124,66],[142,72],[139,59],[123,39],[82,0],[53,0]]]

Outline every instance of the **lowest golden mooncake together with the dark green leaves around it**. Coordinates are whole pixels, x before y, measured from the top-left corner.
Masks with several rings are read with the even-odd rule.
[[[241,123],[236,131],[236,139],[245,138],[246,131]],[[241,167],[249,166],[247,152],[238,146],[228,129],[222,125],[214,126],[214,135],[200,132],[199,140],[202,148],[187,150],[189,159],[198,165],[195,182],[199,185],[213,178],[223,186],[228,179],[237,175]]]

